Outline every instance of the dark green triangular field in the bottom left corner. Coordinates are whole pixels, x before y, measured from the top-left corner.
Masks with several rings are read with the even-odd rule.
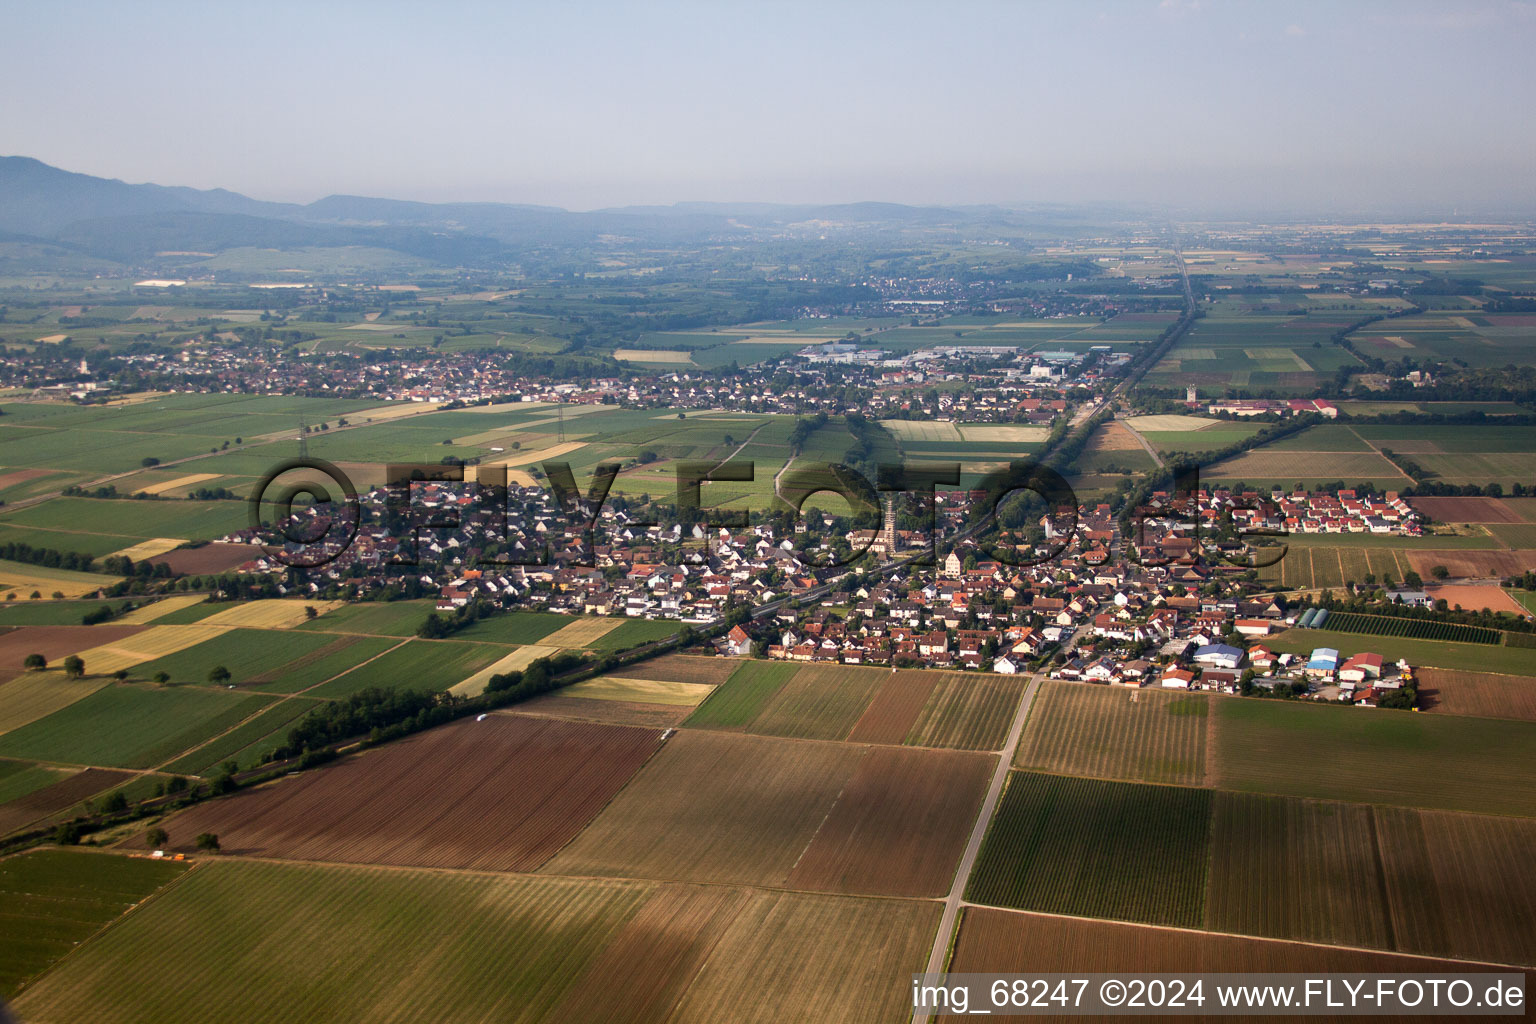
[[[72,952],[131,906],[174,881],[186,864],[40,849],[0,861],[0,996]],[[77,1018],[84,1019],[84,1018]]]

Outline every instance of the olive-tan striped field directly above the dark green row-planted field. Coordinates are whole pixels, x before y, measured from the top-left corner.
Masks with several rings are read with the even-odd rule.
[[[1198,786],[1209,703],[1204,694],[1046,682],[1014,766]]]

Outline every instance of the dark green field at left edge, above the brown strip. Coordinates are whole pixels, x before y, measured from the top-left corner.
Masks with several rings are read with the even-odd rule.
[[[152,768],[230,729],[270,699],[207,686],[118,683],[0,737],[0,757]]]

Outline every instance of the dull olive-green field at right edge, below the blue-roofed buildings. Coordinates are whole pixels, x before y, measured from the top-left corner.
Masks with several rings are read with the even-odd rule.
[[[1278,700],[1215,709],[1223,789],[1536,817],[1536,723]]]

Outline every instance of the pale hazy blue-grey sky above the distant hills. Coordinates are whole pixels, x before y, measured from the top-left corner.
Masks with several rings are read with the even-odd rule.
[[[26,3],[0,152],[499,200],[1536,207],[1536,3]]]

